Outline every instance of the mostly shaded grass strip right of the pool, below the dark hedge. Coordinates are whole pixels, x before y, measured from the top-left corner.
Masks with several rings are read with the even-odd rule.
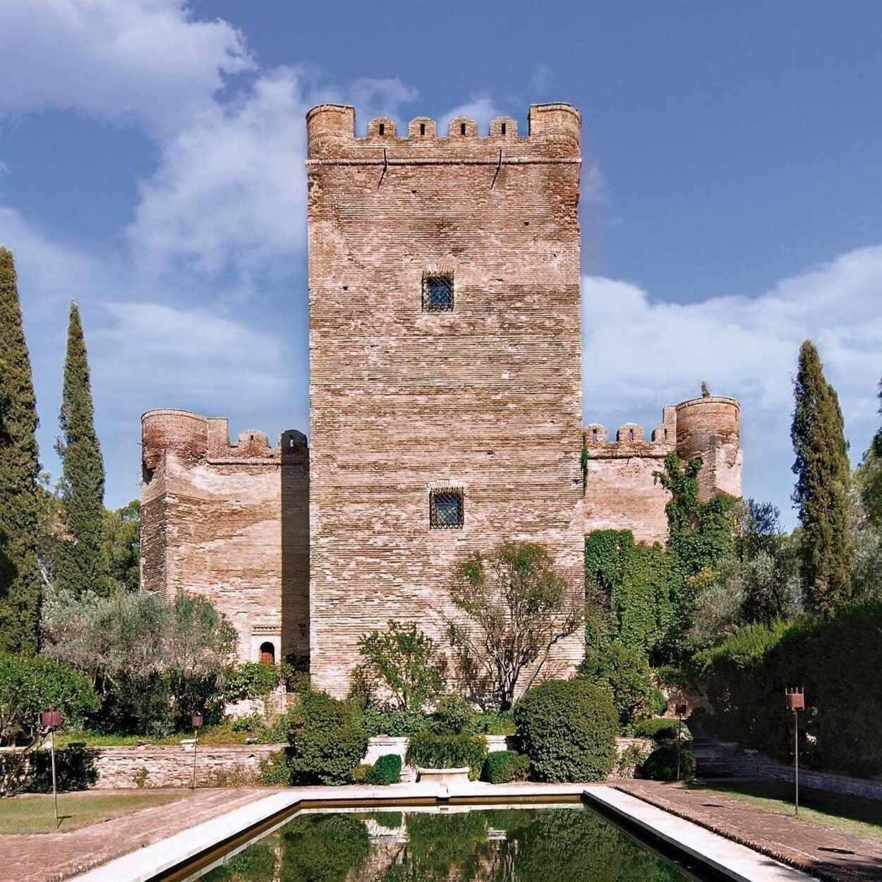
[[[793,814],[793,784],[787,781],[691,781],[690,787],[724,793],[781,815]],[[882,841],[882,802],[876,799],[801,787],[799,817]]]

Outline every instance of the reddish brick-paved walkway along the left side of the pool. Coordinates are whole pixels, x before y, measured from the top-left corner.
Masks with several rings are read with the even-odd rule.
[[[94,792],[107,795],[106,790]],[[70,878],[278,791],[236,788],[179,792],[185,796],[176,802],[140,809],[68,833],[0,835],[0,880],[56,882]]]

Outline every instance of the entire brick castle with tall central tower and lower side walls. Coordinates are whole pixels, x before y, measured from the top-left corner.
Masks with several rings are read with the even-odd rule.
[[[739,496],[739,406],[664,407],[649,438],[583,426],[575,108],[533,105],[526,137],[511,117],[487,137],[417,117],[358,138],[331,104],[306,123],[310,444],[147,412],[142,584],[204,594],[242,661],[295,656],[341,696],[387,620],[444,642],[468,552],[542,542],[580,591],[590,531],[665,541],[669,452],[702,459],[703,498]],[[549,669],[572,671],[583,636],[555,652]]]

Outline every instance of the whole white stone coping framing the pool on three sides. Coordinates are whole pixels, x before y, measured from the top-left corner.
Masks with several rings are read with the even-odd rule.
[[[436,783],[393,784],[386,787],[316,787],[284,790],[229,811],[219,818],[183,830],[145,848],[118,857],[81,874],[73,882],[149,882],[187,861],[228,841],[250,837],[254,828],[271,829],[273,820],[286,823],[298,806],[333,807],[363,804],[467,804],[541,802],[586,799],[624,823],[637,827],[656,841],[709,866],[736,882],[809,882],[810,876],[794,870],[751,848],[729,841],[717,833],[662,811],[633,796],[604,785],[586,784],[485,784],[467,781],[441,786]],[[239,848],[242,846],[240,845]],[[235,848],[235,845],[234,845]]]

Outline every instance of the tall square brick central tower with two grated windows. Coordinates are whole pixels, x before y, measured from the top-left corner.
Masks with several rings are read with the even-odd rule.
[[[310,669],[342,696],[387,620],[444,642],[471,551],[542,542],[582,590],[580,118],[307,126]],[[555,651],[571,673],[583,634]]]

